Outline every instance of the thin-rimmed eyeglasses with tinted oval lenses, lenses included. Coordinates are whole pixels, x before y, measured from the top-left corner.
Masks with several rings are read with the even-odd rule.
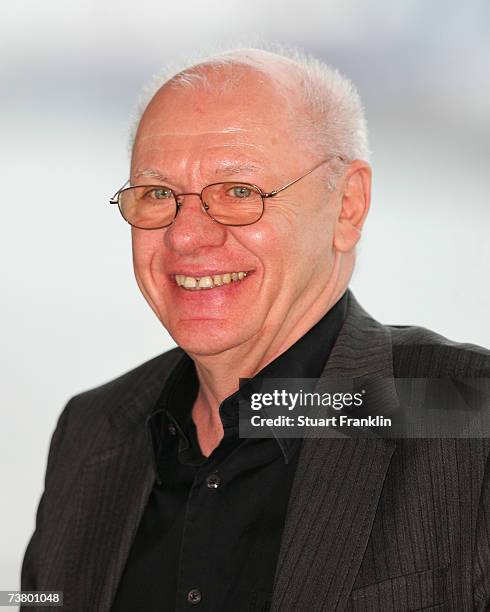
[[[343,157],[335,156],[340,161]],[[290,181],[280,189],[262,191],[257,185],[241,181],[226,181],[207,185],[201,193],[175,193],[165,185],[134,185],[127,187],[129,181],[109,200],[117,204],[121,215],[130,225],[139,229],[161,229],[171,225],[182,206],[183,196],[195,195],[201,200],[203,211],[222,225],[251,225],[264,214],[264,203],[288,187],[305,178],[317,168],[330,161],[324,159],[305,174]]]

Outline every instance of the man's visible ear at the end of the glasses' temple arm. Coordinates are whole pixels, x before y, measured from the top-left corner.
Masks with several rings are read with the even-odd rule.
[[[371,201],[371,167],[353,161],[340,186],[340,212],[335,224],[333,244],[337,251],[351,251],[361,238],[361,230]]]

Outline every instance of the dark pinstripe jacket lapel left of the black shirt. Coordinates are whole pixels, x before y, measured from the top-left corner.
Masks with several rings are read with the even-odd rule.
[[[172,351],[156,360],[111,412],[111,435],[82,467],[66,610],[110,610],[155,480],[146,418],[181,355]]]

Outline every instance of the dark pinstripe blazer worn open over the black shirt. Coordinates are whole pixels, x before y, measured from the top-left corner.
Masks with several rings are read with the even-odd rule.
[[[110,610],[154,482],[145,418],[181,354],[69,401],[51,441],[23,589],[63,590],[64,610]],[[322,377],[489,375],[485,349],[383,326],[349,293]],[[396,395],[380,401],[392,409]],[[305,440],[273,612],[490,610],[489,450],[489,439],[476,438]]]

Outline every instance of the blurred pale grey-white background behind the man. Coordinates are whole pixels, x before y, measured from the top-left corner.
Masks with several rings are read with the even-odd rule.
[[[386,323],[490,345],[490,5],[486,0],[25,0],[0,9],[0,589],[17,588],[68,398],[171,346],[140,297],[128,118],[166,61],[261,37],[358,85],[372,210],[352,283]]]

